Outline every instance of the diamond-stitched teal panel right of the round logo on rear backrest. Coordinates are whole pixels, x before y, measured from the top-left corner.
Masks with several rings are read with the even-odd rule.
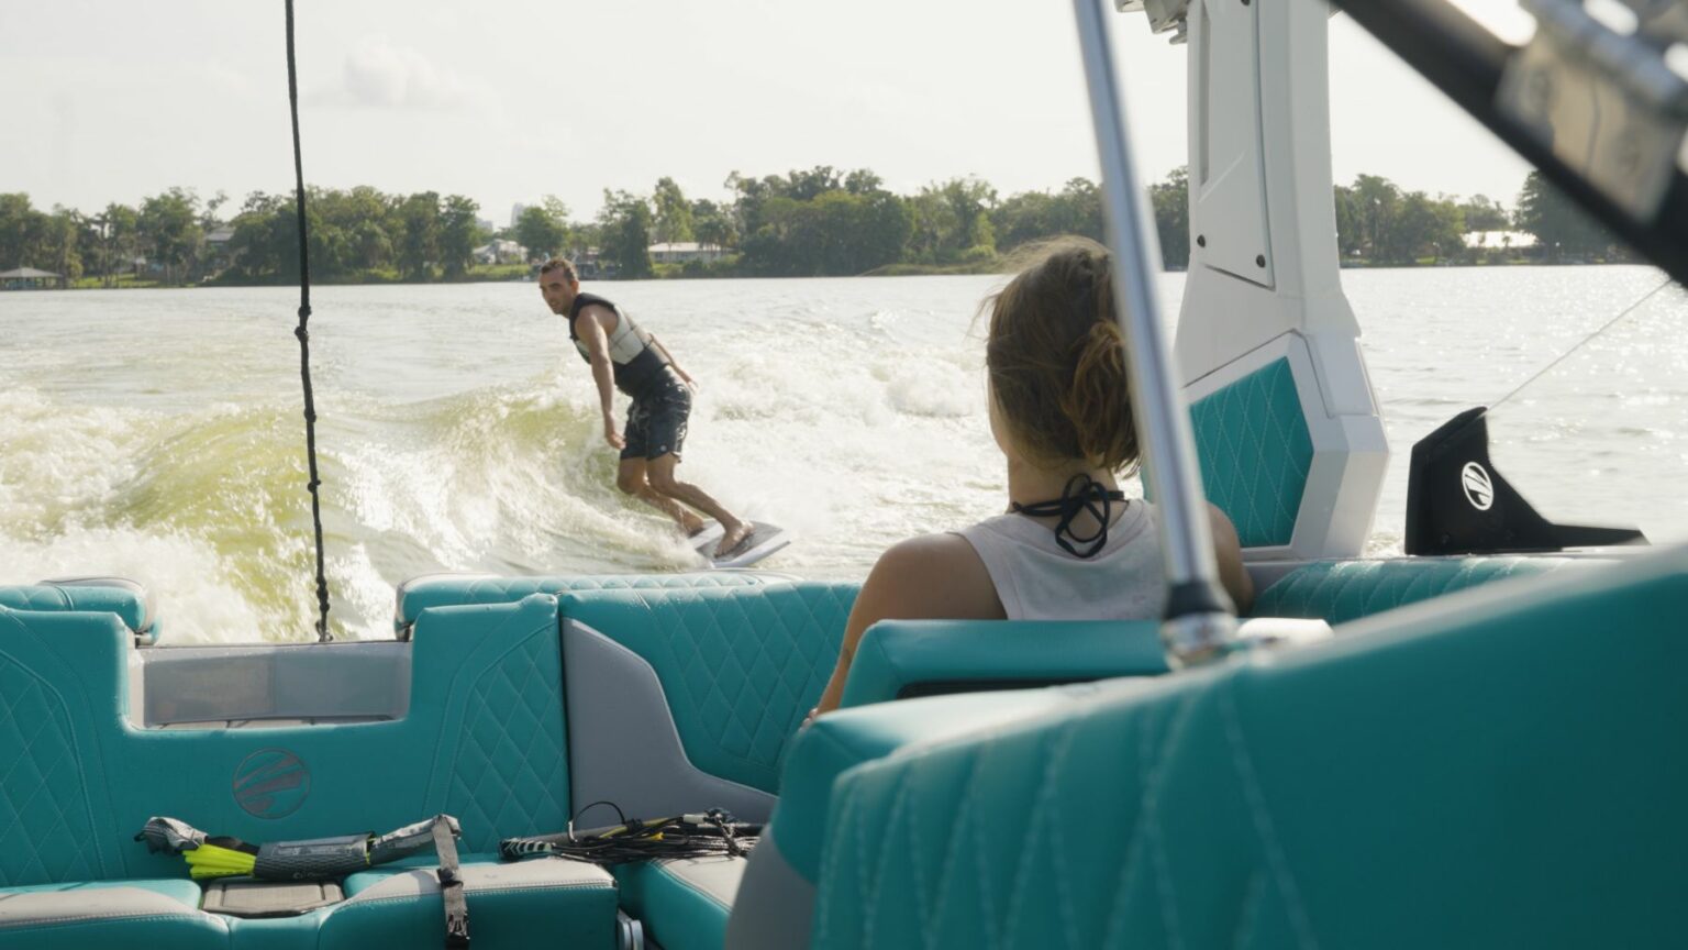
[[[555,617],[547,619],[466,690],[444,810],[463,823],[469,850],[569,822],[562,659]]]

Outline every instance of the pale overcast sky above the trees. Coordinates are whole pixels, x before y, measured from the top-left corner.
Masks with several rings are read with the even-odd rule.
[[[1485,3],[1489,0],[1474,0]],[[295,0],[306,176],[510,206],[871,167],[1004,196],[1096,177],[1067,0]],[[292,186],[280,0],[0,0],[0,191],[39,208]],[[1185,47],[1116,15],[1139,172],[1185,161]],[[1345,17],[1339,183],[1511,205],[1526,166]]]

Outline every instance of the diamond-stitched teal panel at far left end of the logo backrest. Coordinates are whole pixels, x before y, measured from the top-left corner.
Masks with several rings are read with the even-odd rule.
[[[101,877],[64,700],[7,654],[0,612],[0,887]]]

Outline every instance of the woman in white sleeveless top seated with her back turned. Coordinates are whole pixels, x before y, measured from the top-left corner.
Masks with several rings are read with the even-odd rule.
[[[989,301],[991,434],[1008,510],[891,546],[861,587],[832,680],[837,708],[863,632],[886,619],[1144,620],[1165,600],[1155,505],[1126,499],[1138,468],[1107,250],[1057,245]],[[1214,553],[1239,610],[1254,600],[1231,519],[1209,505]]]

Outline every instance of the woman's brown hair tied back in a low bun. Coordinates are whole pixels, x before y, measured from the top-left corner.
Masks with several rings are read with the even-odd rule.
[[[1033,254],[1036,262],[989,301],[984,365],[1008,436],[1035,465],[1134,470],[1138,431],[1107,248],[1063,238]]]

